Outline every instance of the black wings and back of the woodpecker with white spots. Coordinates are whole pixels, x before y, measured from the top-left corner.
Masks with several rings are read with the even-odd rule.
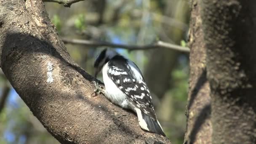
[[[128,60],[122,56],[115,56],[111,59],[108,62],[108,67],[107,75],[111,77],[115,85],[125,93],[136,107],[156,120],[152,97],[139,68],[137,68],[139,76],[138,74],[136,76],[134,70],[129,66]]]

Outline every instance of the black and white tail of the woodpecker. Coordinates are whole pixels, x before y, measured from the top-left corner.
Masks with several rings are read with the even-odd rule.
[[[149,115],[145,114],[140,109],[137,109],[136,111],[139,120],[139,125],[141,126],[142,129],[165,136],[163,128],[161,127],[158,120],[154,120],[153,118],[149,117]]]

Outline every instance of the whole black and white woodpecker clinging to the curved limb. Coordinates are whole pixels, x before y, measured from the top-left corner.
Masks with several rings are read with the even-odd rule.
[[[94,62],[95,77],[102,69],[105,96],[136,112],[142,129],[165,136],[155,115],[152,97],[140,69],[116,51],[104,49]]]

